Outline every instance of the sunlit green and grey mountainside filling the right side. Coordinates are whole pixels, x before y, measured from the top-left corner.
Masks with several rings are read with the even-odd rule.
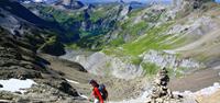
[[[66,58],[79,61],[89,72],[99,75],[101,70],[125,79],[140,72],[155,75],[163,67],[174,77],[219,68],[220,5],[206,2],[194,8],[187,2],[179,10],[156,4],[133,11],[113,32],[100,37],[107,44],[101,52]]]

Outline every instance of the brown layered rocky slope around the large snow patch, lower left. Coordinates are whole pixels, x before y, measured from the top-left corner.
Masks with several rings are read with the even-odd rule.
[[[3,28],[0,31],[0,78],[4,80],[11,78],[32,79],[36,82],[24,94],[1,91],[1,100],[19,103],[24,101],[53,103],[73,101],[74,98],[79,96],[77,91],[57,71],[46,67],[50,62],[36,55],[32,49],[33,45],[15,38],[16,36]],[[42,94],[41,92],[47,93]]]

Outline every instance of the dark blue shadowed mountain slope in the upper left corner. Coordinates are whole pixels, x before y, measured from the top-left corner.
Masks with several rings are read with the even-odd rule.
[[[57,23],[47,22],[34,15],[16,1],[3,0],[0,2],[0,22],[1,27],[18,38],[35,45],[35,50],[42,48],[42,50],[52,55],[65,54],[62,44],[65,35],[61,34],[63,28]],[[50,41],[51,37],[54,39]],[[58,48],[58,50],[52,53],[51,49],[46,49],[51,47],[53,49]]]

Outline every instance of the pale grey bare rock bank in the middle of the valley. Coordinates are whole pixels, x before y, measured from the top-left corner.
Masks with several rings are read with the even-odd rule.
[[[122,79],[133,79],[143,75],[143,69],[139,66],[132,65],[127,61],[127,57],[118,58],[113,56],[107,56],[106,54],[99,52],[90,56],[78,55],[68,58],[63,56],[62,58],[72,61],[77,61],[85,67],[88,72],[99,75],[99,76],[114,76]]]

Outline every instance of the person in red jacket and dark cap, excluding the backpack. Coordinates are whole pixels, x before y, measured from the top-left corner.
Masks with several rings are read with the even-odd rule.
[[[91,84],[94,87],[92,93],[91,93],[95,98],[94,103],[103,103],[103,99],[99,91],[99,84],[96,82],[96,80],[90,80],[89,84]]]

